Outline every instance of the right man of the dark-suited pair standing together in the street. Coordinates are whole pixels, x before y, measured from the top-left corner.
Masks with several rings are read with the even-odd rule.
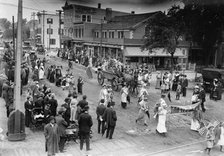
[[[103,120],[106,122],[106,128],[107,128],[106,138],[109,137],[109,139],[112,139],[114,129],[116,126],[117,115],[114,110],[114,103],[109,103],[108,105],[109,107],[105,110],[103,114]]]

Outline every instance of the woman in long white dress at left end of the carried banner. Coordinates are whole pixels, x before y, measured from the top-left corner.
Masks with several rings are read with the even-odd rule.
[[[158,108],[159,118],[158,118],[156,132],[165,137],[167,133],[167,129],[166,129],[167,104],[165,102],[161,102],[160,105],[161,106]]]

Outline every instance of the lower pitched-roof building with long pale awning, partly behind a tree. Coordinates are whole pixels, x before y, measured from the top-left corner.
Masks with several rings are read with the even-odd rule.
[[[94,31],[94,44],[102,45],[102,57],[122,58],[131,64],[151,63],[156,68],[169,68],[171,56],[164,48],[142,51],[146,24],[149,18],[156,18],[161,12],[116,16],[109,22],[98,25]],[[102,32],[102,33],[101,33]],[[102,36],[100,35],[102,34]],[[102,41],[102,44],[99,41]],[[188,57],[187,42],[182,41],[174,54],[174,61],[186,68]],[[121,56],[121,57],[120,57]]]

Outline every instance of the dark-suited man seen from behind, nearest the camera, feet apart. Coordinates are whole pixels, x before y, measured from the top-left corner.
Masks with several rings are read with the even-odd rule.
[[[80,137],[80,150],[83,149],[84,140],[86,142],[86,150],[90,150],[90,130],[93,125],[92,117],[88,113],[89,106],[86,105],[83,109],[83,113],[80,115],[79,124],[79,137]]]

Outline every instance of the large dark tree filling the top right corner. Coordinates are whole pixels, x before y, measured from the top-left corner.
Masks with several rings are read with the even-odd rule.
[[[209,3],[208,0],[185,0],[182,12],[190,39],[201,46],[203,50],[203,64],[212,64],[216,47],[222,42],[223,3],[215,1]]]

